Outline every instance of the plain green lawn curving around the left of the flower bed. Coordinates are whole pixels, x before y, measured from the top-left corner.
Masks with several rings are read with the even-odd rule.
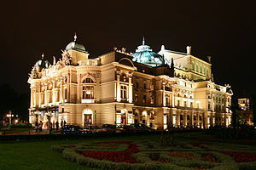
[[[11,143],[0,143],[0,170],[56,170],[92,169],[83,167],[77,163],[66,161],[60,153],[51,150],[53,144],[79,144],[93,141],[111,140],[137,140],[149,139],[150,136],[135,137],[111,137],[106,139],[77,139],[77,140],[55,140],[55,141],[20,141]],[[155,138],[155,137],[154,137]]]

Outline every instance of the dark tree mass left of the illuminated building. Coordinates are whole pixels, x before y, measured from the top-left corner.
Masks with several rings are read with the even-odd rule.
[[[0,120],[12,111],[20,120],[28,121],[29,94],[19,94],[9,84],[0,84],[0,96]]]

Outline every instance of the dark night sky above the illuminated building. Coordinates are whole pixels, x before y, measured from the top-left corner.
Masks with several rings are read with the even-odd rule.
[[[131,3],[132,2],[132,3]],[[114,46],[135,52],[142,43],[160,50],[212,56],[214,81],[230,83],[241,96],[255,92],[255,5],[253,1],[15,1],[1,4],[1,82],[29,92],[28,73],[41,58],[52,62],[73,41],[91,56]]]

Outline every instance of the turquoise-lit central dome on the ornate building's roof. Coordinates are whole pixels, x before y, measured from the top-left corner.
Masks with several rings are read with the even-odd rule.
[[[163,57],[160,54],[154,53],[148,45],[145,45],[144,38],[143,45],[138,46],[136,53],[132,54],[132,56],[133,61],[144,65],[158,66],[163,64]]]

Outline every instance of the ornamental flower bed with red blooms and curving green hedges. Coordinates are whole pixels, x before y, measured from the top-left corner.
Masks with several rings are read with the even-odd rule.
[[[62,144],[52,147],[68,161],[102,169],[255,169],[249,161],[256,153],[222,151],[218,143],[190,142],[190,147],[167,146],[130,141],[110,141],[86,144]],[[208,149],[209,148],[209,149]],[[243,146],[236,150],[243,149]],[[243,155],[242,155],[243,154]]]

